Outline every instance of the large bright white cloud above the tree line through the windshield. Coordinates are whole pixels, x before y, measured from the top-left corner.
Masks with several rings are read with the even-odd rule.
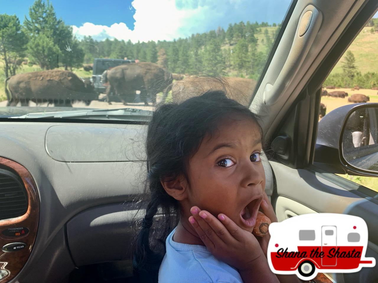
[[[130,39],[133,43],[138,40],[170,41],[197,32],[207,32],[217,26],[226,29],[229,23],[239,23],[242,20],[278,23],[282,20],[288,3],[289,0],[255,0],[254,3],[251,0],[134,0],[133,30],[125,23],[114,23],[111,26],[84,23],[80,27],[73,26],[73,32],[79,39],[91,35],[96,40]],[[266,9],[268,6],[276,9]],[[277,9],[279,12],[272,12]],[[278,20],[272,21],[271,18]]]

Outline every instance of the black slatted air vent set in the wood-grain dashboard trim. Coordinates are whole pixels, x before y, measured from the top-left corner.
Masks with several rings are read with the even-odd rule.
[[[20,178],[0,168],[0,220],[19,217],[28,210],[28,197]]]

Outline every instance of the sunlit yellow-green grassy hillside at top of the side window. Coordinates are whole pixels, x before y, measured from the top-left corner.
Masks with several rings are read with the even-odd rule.
[[[371,27],[365,27],[347,49],[352,51],[356,59],[355,65],[362,74],[378,72],[378,32],[372,34],[370,29]],[[341,66],[344,62],[345,53],[333,68],[331,74],[342,72]]]

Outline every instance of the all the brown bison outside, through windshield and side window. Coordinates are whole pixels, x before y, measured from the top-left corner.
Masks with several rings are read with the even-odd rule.
[[[92,68],[91,64],[84,66],[84,69],[88,71]],[[209,89],[224,90],[230,98],[242,105],[249,105],[256,86],[256,81],[249,78],[171,74],[166,69],[149,62],[120,65],[105,73],[106,76],[102,80],[108,82],[107,97],[119,97],[119,101],[125,105],[135,102],[136,94],[139,94],[142,102],[149,105],[149,102],[156,102],[156,95],[160,92],[163,93],[163,101],[165,101],[168,92],[172,90],[172,99],[180,102]],[[335,89],[335,86],[326,86],[326,88]],[[359,89],[359,87],[354,86],[354,89]],[[29,101],[32,101],[37,105],[48,102],[55,106],[72,107],[72,103],[76,101],[83,101],[89,105],[91,101],[99,100],[99,93],[95,92],[90,78],[82,79],[73,72],[59,69],[8,77],[5,81],[5,92],[8,98],[7,106],[15,106],[19,102],[22,106],[28,106]],[[321,95],[345,98],[348,93],[328,92],[322,89]],[[348,102],[352,103],[368,101],[369,96],[363,94],[353,94],[348,97]],[[325,115],[325,111],[325,105],[321,103],[319,111],[321,117]]]

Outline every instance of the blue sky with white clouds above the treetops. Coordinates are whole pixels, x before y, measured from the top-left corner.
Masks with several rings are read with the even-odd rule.
[[[46,1],[46,0],[45,0]],[[2,13],[22,23],[34,0],[2,1]],[[280,23],[290,0],[50,0],[81,39],[173,40],[229,23]],[[17,3],[17,5],[15,5]],[[375,17],[378,16],[378,13]]]

